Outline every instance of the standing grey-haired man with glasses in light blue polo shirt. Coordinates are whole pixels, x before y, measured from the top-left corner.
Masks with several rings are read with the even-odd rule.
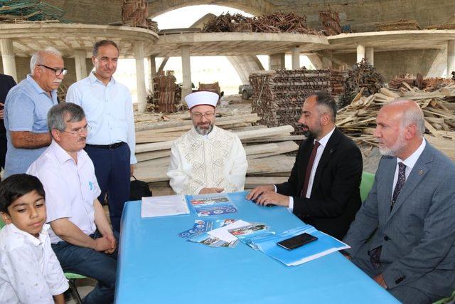
[[[46,48],[34,53],[31,74],[12,88],[5,101],[4,123],[8,147],[5,177],[25,173],[50,145],[46,115],[57,101],[57,89],[67,69],[61,53]]]

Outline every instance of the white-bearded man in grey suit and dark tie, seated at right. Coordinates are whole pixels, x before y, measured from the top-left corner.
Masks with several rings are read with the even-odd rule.
[[[414,101],[380,110],[384,156],[344,238],[347,257],[403,303],[432,303],[455,288],[455,164],[424,130]]]

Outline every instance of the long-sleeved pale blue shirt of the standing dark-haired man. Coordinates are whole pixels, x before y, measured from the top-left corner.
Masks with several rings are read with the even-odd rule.
[[[66,95],[67,103],[75,103],[84,109],[91,130],[87,144],[112,145],[126,142],[131,150],[130,164],[136,164],[134,156],[136,137],[131,94],[126,86],[111,78],[104,85],[93,73],[73,83]]]

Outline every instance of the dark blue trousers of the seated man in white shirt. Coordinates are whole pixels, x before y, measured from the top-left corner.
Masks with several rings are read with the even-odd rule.
[[[119,235],[114,232],[114,236],[118,245]],[[96,231],[90,237],[97,239],[101,235]],[[107,254],[90,248],[74,246],[65,241],[52,244],[52,249],[64,272],[77,273],[98,281],[95,289],[84,298],[83,303],[85,304],[114,302],[117,248],[112,254]]]

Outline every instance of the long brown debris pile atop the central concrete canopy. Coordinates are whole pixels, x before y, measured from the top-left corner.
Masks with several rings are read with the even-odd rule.
[[[205,23],[202,31],[205,33],[252,31],[257,33],[319,34],[319,31],[306,25],[306,16],[280,12],[252,18],[240,14],[221,14]]]

